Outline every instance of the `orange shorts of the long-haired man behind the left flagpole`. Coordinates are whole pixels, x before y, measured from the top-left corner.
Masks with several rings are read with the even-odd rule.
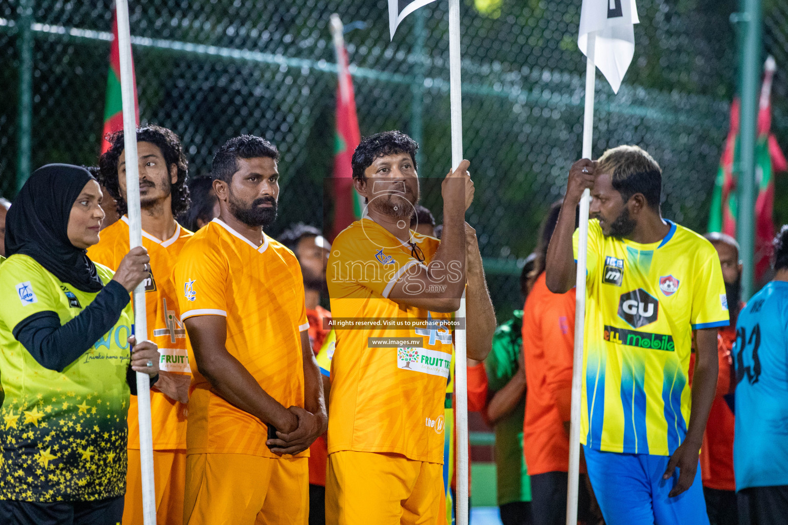
[[[153,475],[156,486],[156,521],[181,525],[184,519],[185,450],[154,450]],[[139,450],[128,449],[126,497],[123,525],[143,525],[143,482]]]

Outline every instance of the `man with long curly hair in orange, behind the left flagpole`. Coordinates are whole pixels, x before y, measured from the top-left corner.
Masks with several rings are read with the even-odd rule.
[[[117,201],[120,220],[101,232],[99,244],[88,250],[91,260],[116,268],[128,253],[126,213],[126,158],[123,131],[110,135],[111,146],[99,162],[99,180]],[[161,353],[159,380],[151,391],[154,484],[158,523],[180,525],[184,513],[186,473],[186,412],[191,379],[186,331],[180,324],[172,268],[191,231],[175,216],[189,205],[187,161],[177,135],[166,128],[137,129],[139,204],[142,208],[143,246],[151,256],[145,281],[148,338]],[[128,410],[128,475],[123,509],[124,525],[142,525],[143,496],[139,463],[137,399]]]

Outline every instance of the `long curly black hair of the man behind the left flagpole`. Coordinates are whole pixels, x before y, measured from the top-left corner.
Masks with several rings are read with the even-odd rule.
[[[117,161],[123,153],[123,131],[115,131],[105,137],[112,146],[99,159],[99,183],[117,201],[117,211],[121,215],[128,212],[125,196],[121,195],[121,187],[117,182]],[[178,179],[172,185],[172,208],[173,216],[180,216],[189,207],[189,188],[186,185],[188,176],[188,161],[184,154],[183,147],[180,146],[180,139],[174,131],[155,124],[147,124],[137,128],[137,142],[151,142],[162,150],[162,155],[169,166],[176,165],[178,168]]]

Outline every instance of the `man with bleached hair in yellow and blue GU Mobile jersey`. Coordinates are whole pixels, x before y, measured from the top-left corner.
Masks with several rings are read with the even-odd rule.
[[[660,166],[637,146],[574,163],[547,255],[548,287],[570,290],[574,207],[589,188],[580,434],[608,525],[708,525],[696,471],[717,328],[728,324],[725,285],[712,244],[662,218],[661,187]]]

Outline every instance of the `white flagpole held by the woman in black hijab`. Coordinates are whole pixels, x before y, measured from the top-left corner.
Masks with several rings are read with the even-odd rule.
[[[128,27],[128,0],[117,0],[117,39],[121,59],[121,99],[123,101],[123,139],[126,158],[126,204],[128,205],[129,246],[143,245],[142,217],[139,212],[139,168],[132,74],[132,42]],[[134,289],[134,334],[137,342],[147,340],[145,285]],[[139,412],[139,457],[142,464],[143,523],[156,525],[156,491],[153,476],[153,434],[151,430],[151,381],[147,374],[136,373]]]

